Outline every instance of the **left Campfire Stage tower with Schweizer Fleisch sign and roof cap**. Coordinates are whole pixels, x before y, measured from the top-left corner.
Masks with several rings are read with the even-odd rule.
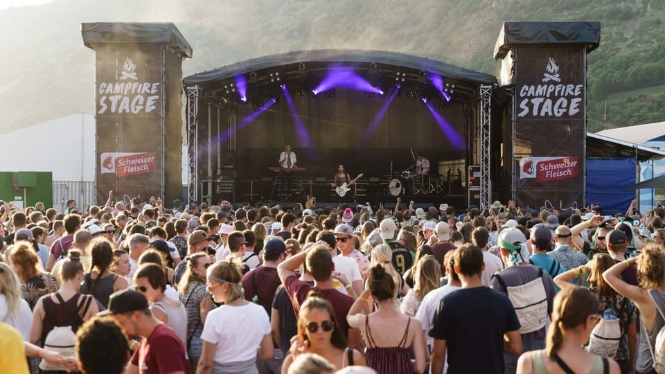
[[[82,36],[96,52],[98,201],[109,190],[180,197],[181,64],[191,47],[172,24],[82,24]]]

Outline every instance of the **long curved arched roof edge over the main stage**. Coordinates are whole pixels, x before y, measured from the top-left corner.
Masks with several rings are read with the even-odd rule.
[[[288,64],[312,62],[325,64],[348,62],[352,64],[366,63],[391,65],[416,69],[418,71],[426,71],[429,73],[437,73],[445,78],[463,80],[477,86],[481,84],[497,83],[497,78],[494,75],[480,73],[452,64],[446,64],[445,62],[429,60],[425,57],[405,55],[402,53],[362,49],[314,49],[252,58],[250,60],[236,62],[235,64],[223,66],[211,71],[204,71],[203,73],[190,75],[184,78],[183,83],[186,86],[205,86],[206,84],[214,84],[215,82],[227,80],[236,75],[249,73],[250,71],[269,69]],[[296,69],[299,68],[300,66],[296,67]]]

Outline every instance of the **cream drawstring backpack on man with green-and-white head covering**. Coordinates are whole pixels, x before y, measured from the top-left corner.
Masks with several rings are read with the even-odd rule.
[[[520,320],[520,334],[528,334],[544,328],[547,323],[547,293],[542,284],[542,268],[538,267],[538,278],[533,281],[507,287],[499,274],[493,277],[506,289],[517,319]]]

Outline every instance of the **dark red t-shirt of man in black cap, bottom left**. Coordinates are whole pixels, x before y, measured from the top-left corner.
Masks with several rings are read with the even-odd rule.
[[[182,371],[190,374],[185,346],[170,327],[160,323],[132,356],[132,364],[141,374],[161,374]]]

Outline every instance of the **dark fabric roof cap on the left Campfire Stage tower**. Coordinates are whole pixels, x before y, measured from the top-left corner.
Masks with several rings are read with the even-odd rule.
[[[94,22],[81,24],[83,44],[94,49],[97,44],[166,44],[166,48],[183,58],[192,57],[192,47],[172,24],[127,22]]]

